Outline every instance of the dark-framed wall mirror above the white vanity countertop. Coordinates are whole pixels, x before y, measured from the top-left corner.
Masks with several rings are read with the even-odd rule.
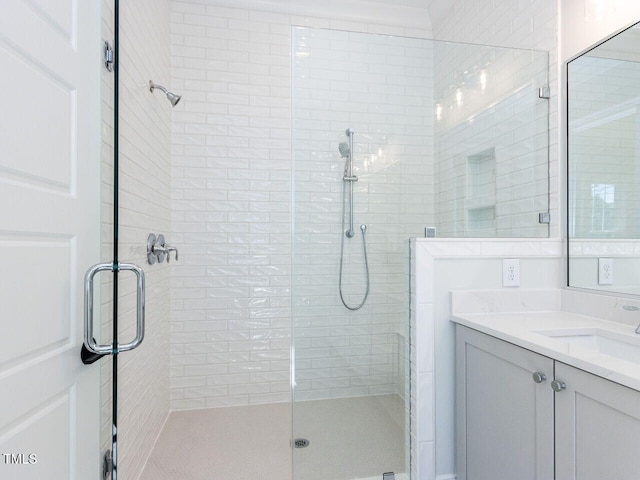
[[[640,23],[567,62],[568,283],[640,295]]]

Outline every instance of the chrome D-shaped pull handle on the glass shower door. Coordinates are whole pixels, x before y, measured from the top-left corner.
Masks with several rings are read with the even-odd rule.
[[[129,343],[99,345],[93,335],[93,281],[99,272],[129,270],[136,274],[136,337]],[[84,276],[84,345],[87,350],[98,355],[112,355],[133,350],[144,339],[145,278],[144,272],[131,263],[99,263],[92,266]]]

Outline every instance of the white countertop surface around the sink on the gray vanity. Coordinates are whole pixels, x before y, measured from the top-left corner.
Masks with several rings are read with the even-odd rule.
[[[605,355],[536,331],[595,329],[622,334],[640,352],[635,327],[568,312],[458,313],[451,320],[559,362],[640,391],[640,363]],[[560,379],[562,380],[562,379]]]

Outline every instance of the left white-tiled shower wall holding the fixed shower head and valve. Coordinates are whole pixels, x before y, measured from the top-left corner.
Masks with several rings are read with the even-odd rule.
[[[102,36],[113,42],[113,2],[104,1]],[[147,82],[170,87],[169,1],[120,2],[119,260],[146,275],[146,334],[136,350],[119,356],[119,468],[137,478],[169,412],[169,298],[167,264],[148,265],[149,233],[171,237],[171,105]],[[102,77],[102,258],[113,259],[113,86]],[[97,259],[96,259],[97,261]],[[135,337],[133,274],[119,274],[119,342]],[[112,338],[112,279],[101,281],[101,343]],[[111,449],[112,363],[100,360],[102,449]]]

